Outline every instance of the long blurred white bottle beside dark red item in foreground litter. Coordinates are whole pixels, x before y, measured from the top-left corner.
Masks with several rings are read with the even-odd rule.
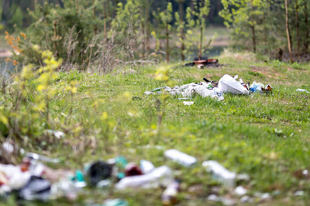
[[[172,181],[172,170],[163,165],[155,168],[149,174],[125,176],[121,181],[116,183],[117,190],[127,188],[152,188],[160,185],[167,186]]]

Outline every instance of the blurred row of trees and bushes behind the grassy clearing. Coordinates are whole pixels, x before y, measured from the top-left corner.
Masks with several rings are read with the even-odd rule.
[[[160,51],[167,54],[167,61],[169,56],[187,60],[188,54],[199,47],[194,41],[200,38],[201,23],[204,30],[205,25],[227,26],[233,49],[279,59],[291,50],[296,60],[302,56],[308,56],[309,60],[307,0],[287,0],[287,13],[285,0],[0,0],[0,3],[1,33],[25,31],[28,38],[24,47],[36,44],[50,49],[64,62],[89,64],[90,56],[101,55],[98,47],[120,52],[121,62],[135,62]],[[204,49],[209,45],[205,40],[204,35]],[[195,50],[198,56],[196,53]],[[33,58],[21,61],[32,62]]]

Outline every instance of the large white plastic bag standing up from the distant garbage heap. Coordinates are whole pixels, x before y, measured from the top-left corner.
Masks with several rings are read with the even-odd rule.
[[[225,74],[222,78],[220,78],[218,82],[218,91],[234,94],[249,94],[249,91],[245,89],[245,87],[243,87],[239,82],[237,82],[228,74]]]

